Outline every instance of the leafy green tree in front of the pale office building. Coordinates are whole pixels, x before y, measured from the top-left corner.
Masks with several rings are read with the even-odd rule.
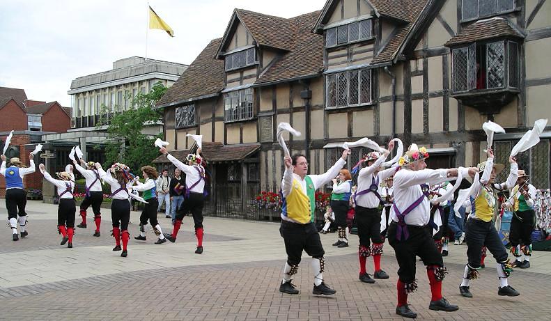
[[[153,109],[155,103],[166,92],[166,87],[157,82],[149,93],[139,93],[136,97],[125,97],[130,100],[133,108],[120,111],[119,107],[102,105],[102,113],[98,126],[107,125],[109,137],[105,142],[106,164],[122,162],[130,166],[134,173],[139,173],[141,166],[151,164],[159,155],[153,142],[162,138],[162,132],[157,135],[143,134],[148,125],[162,122],[162,115]],[[138,175],[138,174],[137,174]]]

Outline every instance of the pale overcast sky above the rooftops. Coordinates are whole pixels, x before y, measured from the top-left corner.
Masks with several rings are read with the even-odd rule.
[[[33,100],[70,107],[72,79],[110,70],[113,61],[145,56],[148,1],[3,0],[0,3],[0,86]],[[325,0],[150,0],[174,30],[149,30],[148,58],[192,63],[222,37],[233,8],[295,17]]]

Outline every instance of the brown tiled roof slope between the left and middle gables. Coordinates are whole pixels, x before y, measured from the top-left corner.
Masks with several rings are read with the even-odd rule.
[[[320,11],[290,18],[293,48],[270,66],[255,84],[319,74],[323,70],[323,35],[311,33]]]

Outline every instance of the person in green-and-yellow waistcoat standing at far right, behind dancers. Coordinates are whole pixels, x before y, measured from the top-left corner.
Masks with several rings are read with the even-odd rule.
[[[534,199],[538,191],[534,185],[528,182],[528,175],[520,169],[518,171],[517,185],[511,191],[511,197],[506,205],[513,209],[511,219],[511,253],[515,256],[515,267],[527,269],[530,267],[532,252],[531,234],[534,230],[535,212]]]

